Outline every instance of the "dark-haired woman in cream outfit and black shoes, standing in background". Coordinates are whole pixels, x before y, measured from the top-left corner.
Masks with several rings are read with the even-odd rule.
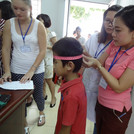
[[[48,84],[48,87],[51,92],[51,102],[50,102],[50,108],[53,108],[56,104],[56,97],[55,97],[55,84],[52,81],[53,78],[53,52],[52,52],[52,46],[54,43],[57,41],[56,39],[56,33],[55,32],[50,32],[48,28],[51,26],[51,19],[47,14],[39,14],[37,16],[37,19],[40,20],[47,31],[47,51],[46,51],[46,56],[44,59],[45,62],[45,75],[44,75],[44,87],[43,87],[43,92],[44,92],[44,97],[45,100],[47,99],[46,95],[46,83]]]

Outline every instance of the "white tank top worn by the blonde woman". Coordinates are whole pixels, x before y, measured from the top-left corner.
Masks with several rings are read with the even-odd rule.
[[[11,72],[17,74],[26,74],[31,68],[39,54],[38,44],[38,20],[35,20],[32,32],[25,37],[25,45],[30,48],[30,52],[22,52],[21,48],[24,46],[22,35],[16,32],[15,18],[10,19],[11,36],[13,41],[13,52],[11,59]],[[44,60],[35,71],[35,74],[44,72]]]

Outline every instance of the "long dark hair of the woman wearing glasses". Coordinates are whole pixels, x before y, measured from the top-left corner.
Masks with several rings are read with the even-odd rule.
[[[106,15],[109,11],[119,11],[120,9],[122,8],[122,6],[120,5],[113,5],[111,7],[109,7],[103,14],[103,23],[102,23],[102,27],[101,27],[101,32],[100,32],[100,36],[99,36],[99,40],[98,42],[99,43],[105,43],[106,42],[106,39],[107,39],[107,33],[105,31],[105,28],[104,28],[104,21],[105,21],[105,18],[106,18]]]

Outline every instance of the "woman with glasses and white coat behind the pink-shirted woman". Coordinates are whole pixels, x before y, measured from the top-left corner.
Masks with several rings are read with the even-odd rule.
[[[103,14],[103,23],[100,33],[91,35],[85,44],[85,51],[92,57],[98,59],[112,41],[114,15],[121,9],[119,5],[109,7]],[[98,86],[100,73],[94,68],[85,68],[83,73],[83,83],[87,94],[87,118],[96,123],[95,105],[98,97]],[[97,134],[96,126],[94,134]]]

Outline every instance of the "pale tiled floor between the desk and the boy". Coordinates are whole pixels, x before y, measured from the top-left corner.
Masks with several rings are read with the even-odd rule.
[[[37,119],[39,117],[39,112],[37,110],[37,106],[35,102],[33,102],[32,106],[28,107],[28,115],[27,115],[27,121],[30,128],[30,134],[54,134],[56,119],[57,119],[57,111],[60,101],[60,93],[57,93],[59,86],[56,85],[56,106],[53,108],[50,108],[50,92],[49,89],[47,89],[47,95],[48,99],[45,102],[45,110],[44,113],[46,115],[46,123],[43,126],[38,127],[37,126]],[[87,120],[86,125],[86,134],[92,134],[93,133],[93,123]]]

